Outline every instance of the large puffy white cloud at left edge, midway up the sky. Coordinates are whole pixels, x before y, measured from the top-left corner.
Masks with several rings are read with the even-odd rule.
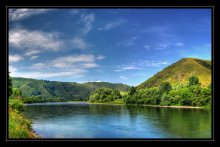
[[[63,41],[58,38],[56,33],[16,28],[9,31],[9,47],[57,51],[63,47]]]

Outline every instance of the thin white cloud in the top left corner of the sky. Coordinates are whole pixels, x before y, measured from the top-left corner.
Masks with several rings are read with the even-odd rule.
[[[9,9],[9,20],[10,21],[19,21],[26,19],[28,17],[34,16],[34,15],[39,15],[46,13],[50,9]],[[52,10],[52,9],[51,9]]]

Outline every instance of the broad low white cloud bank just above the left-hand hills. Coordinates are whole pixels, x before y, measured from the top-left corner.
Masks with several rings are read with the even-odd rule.
[[[14,61],[18,61],[18,57]],[[53,78],[53,77],[82,77],[88,72],[88,69],[98,67],[95,63],[96,60],[102,60],[104,56],[98,55],[70,55],[63,56],[53,59],[45,63],[35,63],[27,69],[29,70],[19,71],[18,69],[10,66],[10,70],[13,77],[24,77],[24,78]],[[36,70],[36,71],[35,71]]]

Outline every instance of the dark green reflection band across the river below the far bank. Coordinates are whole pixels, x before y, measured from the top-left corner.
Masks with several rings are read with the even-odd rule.
[[[97,119],[100,123],[127,121],[131,127],[153,124],[176,137],[211,137],[211,112],[203,109],[159,108],[135,105],[35,105],[26,106],[25,115],[31,120],[55,117]],[[99,119],[101,118],[101,119]],[[138,122],[139,121],[139,122]],[[143,126],[144,127],[144,126]],[[144,129],[144,128],[143,128]]]

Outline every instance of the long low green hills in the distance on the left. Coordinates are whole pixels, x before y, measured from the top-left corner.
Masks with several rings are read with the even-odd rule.
[[[57,82],[28,78],[12,78],[13,87],[22,91],[23,96],[41,96],[45,98],[64,98],[67,100],[83,100],[98,88],[112,88],[127,91],[130,87],[125,84],[108,82]]]

